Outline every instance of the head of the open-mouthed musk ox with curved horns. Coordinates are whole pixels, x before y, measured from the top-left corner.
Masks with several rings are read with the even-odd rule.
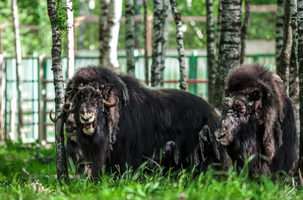
[[[82,138],[97,134],[113,143],[118,132],[121,103],[128,104],[125,83],[108,69],[84,67],[69,84],[70,89],[66,91],[69,98],[64,109],[74,113],[77,134]]]

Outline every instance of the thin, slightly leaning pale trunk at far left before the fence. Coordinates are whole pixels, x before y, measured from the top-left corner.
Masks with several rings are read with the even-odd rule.
[[[17,0],[11,1],[12,16],[13,16],[13,30],[15,36],[15,50],[16,50],[16,84],[17,84],[17,106],[18,106],[18,139],[22,140],[22,127],[23,127],[23,118],[22,118],[22,85],[21,85],[21,74],[22,74],[22,55],[21,55],[21,44],[20,44],[20,34],[19,34],[19,19],[18,19],[18,6]]]

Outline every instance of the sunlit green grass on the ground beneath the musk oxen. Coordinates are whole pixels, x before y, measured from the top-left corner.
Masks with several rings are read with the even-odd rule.
[[[303,198],[303,187],[300,184],[292,187],[286,177],[272,182],[265,177],[249,179],[247,170],[209,170],[194,177],[192,171],[162,175],[161,169],[146,174],[143,168],[124,173],[119,178],[105,174],[97,183],[72,178],[71,186],[59,187],[55,178],[54,146],[44,148],[39,144],[8,143],[0,146],[0,197],[1,200]]]

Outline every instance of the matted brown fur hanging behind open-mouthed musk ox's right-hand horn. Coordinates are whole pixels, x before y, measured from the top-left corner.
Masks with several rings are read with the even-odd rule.
[[[106,101],[108,103],[115,103],[117,97],[117,89],[115,87],[111,88],[108,92]],[[108,108],[107,115],[107,131],[109,134],[110,147],[116,141],[116,134],[119,131],[118,123],[120,118],[119,105]]]

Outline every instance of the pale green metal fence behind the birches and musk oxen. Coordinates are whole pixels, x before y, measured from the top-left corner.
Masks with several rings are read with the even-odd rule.
[[[67,79],[67,58],[63,58],[63,75]],[[120,71],[126,72],[126,58],[118,57]],[[208,70],[206,56],[185,57],[185,69],[187,77],[187,90],[205,99],[208,98]],[[259,62],[268,67],[271,71],[275,71],[275,55],[252,55],[245,58],[246,63]],[[5,109],[5,127],[6,133],[10,129],[10,115],[12,99],[16,99],[16,73],[15,59],[5,58],[6,64],[6,109]],[[76,57],[75,70],[87,65],[98,65],[99,59],[95,57]],[[54,141],[54,125],[49,120],[49,112],[55,108],[53,72],[51,71],[51,58],[26,58],[22,59],[22,108],[24,121],[24,142],[32,142],[36,139],[46,139],[49,142]],[[151,67],[151,59],[149,60],[149,71]],[[145,79],[144,57],[136,57],[135,66],[136,77]],[[150,74],[151,76],[151,74]],[[177,56],[165,57],[164,69],[164,88],[179,87],[179,61]],[[17,112],[15,112],[17,119]],[[15,123],[15,130],[17,126]],[[15,138],[17,134],[15,133]]]

